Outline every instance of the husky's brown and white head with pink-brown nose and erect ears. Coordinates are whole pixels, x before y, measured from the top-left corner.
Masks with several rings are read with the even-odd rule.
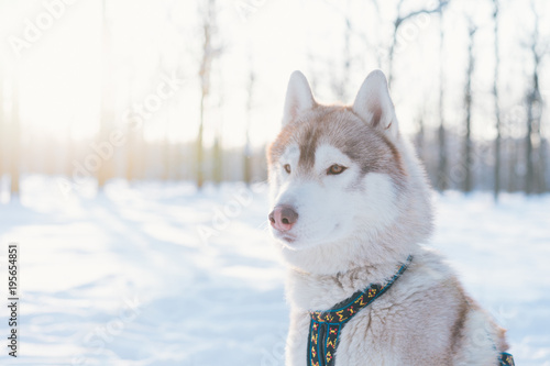
[[[430,231],[424,171],[399,134],[382,71],[369,75],[352,106],[317,103],[295,71],[267,159],[272,233],[297,267],[338,271],[388,251],[400,256],[403,242]]]

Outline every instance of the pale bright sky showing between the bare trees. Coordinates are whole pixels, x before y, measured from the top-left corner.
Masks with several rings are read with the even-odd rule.
[[[61,0],[59,0],[61,1]],[[69,2],[67,0],[67,2]],[[6,102],[10,101],[12,80],[19,74],[20,111],[25,133],[64,140],[89,137],[99,119],[101,71],[105,63],[101,43],[101,2],[73,0],[64,9],[48,12],[44,3],[56,1],[0,0],[0,73]],[[502,0],[501,93],[503,109],[521,101],[529,80],[531,58],[522,44],[532,32],[528,1]],[[162,101],[146,120],[147,138],[168,136],[173,141],[196,136],[199,120],[199,81],[201,31],[197,3],[176,0],[108,1],[111,24],[109,62],[109,100],[114,123],[124,122],[124,111],[133,103],[144,103],[155,93],[163,78],[176,73],[185,78],[178,91]],[[352,13],[351,76],[345,93],[351,102],[364,77],[377,64],[377,52],[386,49],[395,18],[395,1],[381,1],[380,12],[372,1],[319,0],[224,0],[219,1],[219,34],[222,56],[213,64],[212,95],[208,100],[206,138],[211,141],[222,129],[227,146],[244,141],[246,124],[246,82],[251,66],[256,76],[251,117],[251,137],[255,145],[272,140],[279,129],[288,76],[302,70],[316,84],[314,93],[321,101],[333,102],[330,86],[333,75],[341,75],[344,58],[344,14]],[[405,1],[406,8],[433,1]],[[244,7],[243,7],[244,4]],[[549,2],[537,1],[541,16],[541,37],[550,40]],[[248,9],[243,13],[242,9]],[[55,16],[48,13],[54,12]],[[446,119],[459,126],[462,117],[466,68],[466,14],[475,20],[476,67],[474,132],[491,137],[494,73],[492,1],[454,0],[444,15],[443,54],[446,79]],[[42,23],[41,23],[42,22]],[[29,25],[32,23],[32,25]],[[33,26],[44,30],[33,33]],[[36,29],[35,29],[36,30]],[[439,96],[439,32],[437,14],[411,20],[404,25],[394,66],[392,93],[402,129],[415,132],[421,111],[426,123],[437,125]],[[26,42],[18,56],[16,40]],[[550,57],[550,56],[549,56]],[[541,88],[550,88],[548,60],[542,65]],[[548,113],[547,113],[548,114]],[[548,119],[548,117],[547,117]]]

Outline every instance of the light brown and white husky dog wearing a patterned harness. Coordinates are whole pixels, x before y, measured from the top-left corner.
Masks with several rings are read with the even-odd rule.
[[[409,256],[403,276],[342,328],[336,365],[501,365],[504,330],[421,245],[432,231],[431,191],[382,71],[352,106],[318,103],[295,71],[267,159],[271,231],[288,264],[286,365],[310,364],[310,312],[387,284]]]

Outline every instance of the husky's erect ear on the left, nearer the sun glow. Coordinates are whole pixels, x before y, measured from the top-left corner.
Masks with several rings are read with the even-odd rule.
[[[312,109],[316,102],[308,80],[300,71],[294,71],[286,89],[283,126],[295,120],[299,114]]]

